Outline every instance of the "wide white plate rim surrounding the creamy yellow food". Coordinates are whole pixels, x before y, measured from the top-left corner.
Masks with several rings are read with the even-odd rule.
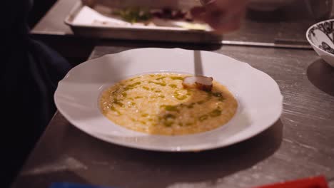
[[[115,125],[101,114],[98,98],[108,86],[143,73],[194,73],[193,54],[179,48],[141,48],[81,63],[59,82],[56,106],[69,122],[93,137],[158,151],[225,147],[257,135],[278,120],[283,97],[275,80],[247,63],[207,51],[201,51],[204,75],[226,85],[238,100],[238,111],[226,125],[194,135],[148,135]]]

